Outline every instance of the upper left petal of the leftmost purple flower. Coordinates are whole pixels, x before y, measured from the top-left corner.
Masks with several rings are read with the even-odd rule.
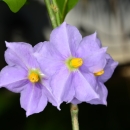
[[[7,64],[20,65],[25,69],[38,68],[36,59],[32,56],[33,48],[28,43],[23,42],[6,42],[8,49],[5,52]]]

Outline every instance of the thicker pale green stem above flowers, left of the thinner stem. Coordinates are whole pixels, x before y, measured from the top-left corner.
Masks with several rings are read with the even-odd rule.
[[[50,17],[50,20],[51,20],[52,27],[56,28],[58,25],[57,25],[57,21],[56,21],[56,18],[55,18],[55,14],[54,14],[54,12],[51,8],[50,0],[44,0],[44,2],[46,4],[47,10],[48,10],[48,14],[49,14],[49,17]]]

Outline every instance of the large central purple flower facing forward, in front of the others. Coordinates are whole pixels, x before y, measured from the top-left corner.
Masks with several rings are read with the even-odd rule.
[[[106,104],[101,101],[106,100],[106,88],[97,85],[100,82],[95,74],[106,66],[107,48],[101,47],[96,33],[82,38],[76,27],[64,22],[52,31],[49,42],[39,43],[34,49],[40,66],[51,76],[50,85],[59,104],[93,104],[93,100]]]

